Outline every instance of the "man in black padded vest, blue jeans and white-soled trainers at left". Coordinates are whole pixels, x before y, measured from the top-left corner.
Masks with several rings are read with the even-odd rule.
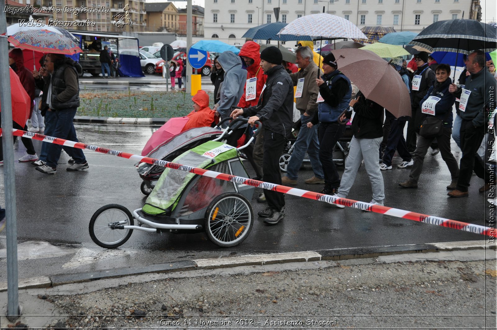
[[[79,67],[81,69],[81,66]],[[80,106],[80,87],[78,83],[78,66],[72,59],[61,54],[49,54],[46,68],[40,70],[48,92],[43,107],[47,114],[53,116],[53,133],[56,138],[78,142],[73,119]],[[43,109],[42,109],[43,110]],[[62,146],[51,143],[47,151],[46,164],[36,167],[42,173],[55,174],[61,156]],[[67,167],[68,171],[88,168],[88,163],[79,148],[66,149],[75,163]]]

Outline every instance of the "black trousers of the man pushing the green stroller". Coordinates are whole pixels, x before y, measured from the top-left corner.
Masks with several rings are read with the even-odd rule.
[[[279,158],[285,146],[283,134],[264,130],[264,157],[262,160],[262,180],[265,182],[281,184]],[[270,208],[281,211],[285,206],[285,195],[281,192],[264,189],[267,204]]]

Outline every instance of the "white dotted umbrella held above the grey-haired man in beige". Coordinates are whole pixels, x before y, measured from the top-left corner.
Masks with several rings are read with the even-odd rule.
[[[281,34],[293,34],[296,36],[312,36],[318,39],[365,39],[364,33],[351,21],[327,14],[312,14],[299,17],[278,32]]]

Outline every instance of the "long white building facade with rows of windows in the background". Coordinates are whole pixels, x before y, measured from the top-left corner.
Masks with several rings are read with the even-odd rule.
[[[438,20],[481,17],[480,0],[205,0],[205,38],[243,44],[249,28],[276,21],[275,7],[284,23],[324,10],[359,28],[391,26],[397,32],[420,32]]]

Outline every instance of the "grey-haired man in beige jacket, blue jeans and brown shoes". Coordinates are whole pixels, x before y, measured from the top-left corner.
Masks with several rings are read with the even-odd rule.
[[[299,47],[296,51],[296,64],[300,70],[291,74],[294,86],[297,86],[295,98],[296,105],[299,109],[300,131],[295,141],[292,157],[288,163],[287,175],[281,178],[284,185],[297,184],[298,171],[304,160],[304,155],[307,151],[311,160],[314,176],[305,180],[305,183],[325,183],[323,167],[319,161],[319,142],[317,127],[307,127],[307,123],[311,121],[314,112],[318,111],[318,94],[319,87],[316,84],[316,78],[321,76],[321,70],[313,61],[313,53],[309,47]],[[319,71],[319,75],[318,75]]]

